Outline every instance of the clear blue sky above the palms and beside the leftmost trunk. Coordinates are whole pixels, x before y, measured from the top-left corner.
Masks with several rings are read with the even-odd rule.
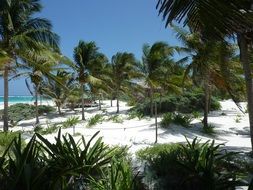
[[[177,44],[155,9],[156,0],[41,0],[40,17],[49,19],[61,38],[61,51],[72,58],[79,40],[95,41],[109,58],[128,51],[141,58],[144,43]],[[10,82],[10,95],[29,95],[24,79]],[[3,80],[0,79],[0,95]]]

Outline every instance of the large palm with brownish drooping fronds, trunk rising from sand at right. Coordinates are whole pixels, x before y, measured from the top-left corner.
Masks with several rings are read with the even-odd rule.
[[[224,42],[202,41],[198,33],[174,27],[177,38],[183,44],[177,47],[179,53],[186,54],[183,61],[187,62],[185,77],[191,73],[194,84],[204,90],[204,127],[208,127],[208,112],[212,86],[228,92],[237,104],[231,82],[240,83],[238,76],[232,71],[234,49]],[[238,62],[237,62],[238,65]],[[235,69],[235,68],[233,68]],[[237,104],[239,106],[239,104]]]

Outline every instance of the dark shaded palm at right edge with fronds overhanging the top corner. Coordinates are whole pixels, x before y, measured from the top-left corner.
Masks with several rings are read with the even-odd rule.
[[[252,1],[225,0],[158,0],[157,9],[166,19],[189,25],[208,39],[224,40],[224,36],[237,35],[241,63],[247,91],[251,146],[253,150],[253,79],[249,52],[252,48]]]

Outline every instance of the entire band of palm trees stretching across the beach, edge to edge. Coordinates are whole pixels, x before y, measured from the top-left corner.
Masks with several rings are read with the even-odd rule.
[[[52,98],[59,114],[66,102],[74,108],[75,103],[80,101],[82,120],[85,120],[87,94],[93,100],[101,99],[102,95],[116,99],[117,113],[122,95],[148,97],[150,115],[153,116],[153,101],[157,94],[161,97],[170,92],[184,91],[184,81],[187,81],[203,88],[205,93],[205,127],[208,126],[212,90],[224,90],[236,102],[235,85],[231,84],[239,84],[245,79],[253,137],[250,3],[238,4],[236,0],[230,3],[225,0],[194,0],[188,3],[159,0],[157,8],[167,20],[166,25],[174,20],[185,21],[187,30],[173,26],[181,47],[171,47],[165,42],[144,44],[141,60],[128,52],[118,52],[109,60],[95,42],[79,41],[71,61],[61,55],[59,37],[52,32],[50,22],[35,17],[41,10],[39,0],[2,0],[0,67],[4,78],[4,131],[8,131],[10,75],[14,78],[26,76],[30,80],[34,89],[30,88],[30,91],[35,96],[36,106],[39,94]],[[244,77],[236,48],[227,38],[234,35],[238,37]],[[176,52],[182,55],[177,61],[173,59]]]

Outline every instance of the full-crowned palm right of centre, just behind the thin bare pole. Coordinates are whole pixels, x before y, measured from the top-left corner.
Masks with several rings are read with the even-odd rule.
[[[167,78],[164,74],[171,64],[174,49],[165,42],[156,42],[151,47],[143,46],[142,62],[138,70],[142,74],[144,86],[148,87],[150,97],[150,116],[153,117],[153,99],[156,89],[161,88],[161,82]]]

